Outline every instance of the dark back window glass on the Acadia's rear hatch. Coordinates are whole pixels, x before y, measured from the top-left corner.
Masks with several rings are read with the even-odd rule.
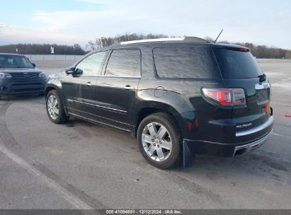
[[[263,74],[251,52],[219,48],[213,50],[224,79],[249,79]]]

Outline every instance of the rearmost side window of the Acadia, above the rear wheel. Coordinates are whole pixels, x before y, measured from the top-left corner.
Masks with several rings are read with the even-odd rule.
[[[158,76],[162,78],[219,78],[210,48],[155,48],[154,64]]]

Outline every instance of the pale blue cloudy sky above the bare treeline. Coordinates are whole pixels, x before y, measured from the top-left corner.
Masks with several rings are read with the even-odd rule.
[[[291,50],[289,0],[0,0],[0,45],[82,47],[122,33],[216,37]]]

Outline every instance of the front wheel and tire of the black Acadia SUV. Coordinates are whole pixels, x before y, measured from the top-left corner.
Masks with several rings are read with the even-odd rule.
[[[62,124],[69,120],[66,112],[64,112],[64,105],[62,104],[62,100],[59,98],[57,91],[53,90],[47,93],[47,98],[45,98],[45,106],[48,117],[55,124]]]

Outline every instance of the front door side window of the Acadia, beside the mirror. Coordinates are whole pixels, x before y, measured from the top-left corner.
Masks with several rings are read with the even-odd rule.
[[[97,75],[107,52],[97,52],[86,57],[76,66],[77,74]]]

